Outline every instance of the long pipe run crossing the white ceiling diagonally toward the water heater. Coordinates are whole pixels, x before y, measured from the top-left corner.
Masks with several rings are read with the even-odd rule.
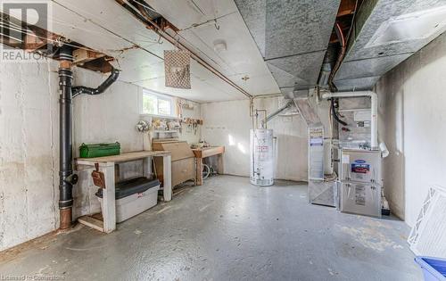
[[[208,62],[205,62],[202,60],[200,56],[195,54],[192,50],[186,47],[186,45],[181,44],[178,40],[176,40],[174,37],[169,35],[169,33],[166,33],[161,27],[156,24],[156,22],[152,21],[151,19],[147,18],[145,15],[141,14],[132,4],[129,4],[127,0],[116,0],[120,5],[122,5],[128,12],[132,12],[130,10],[133,10],[132,14],[135,15],[135,12],[138,16],[136,18],[140,21],[143,21],[140,17],[144,17],[143,23],[145,23],[146,27],[148,29],[153,29],[153,31],[158,34],[159,36],[163,37],[167,41],[169,41],[170,44],[175,45],[178,47],[178,49],[181,49],[183,51],[188,51],[191,54],[191,57],[198,62],[202,67],[204,67],[207,70],[210,70],[213,74],[219,77],[219,79],[222,79],[223,81],[227,82],[230,86],[234,87],[237,91],[240,93],[246,95],[249,98],[252,98],[252,95],[250,95],[248,92],[246,92],[242,87],[239,87],[236,85],[231,79],[228,79],[223,73],[221,73],[219,70],[214,69]],[[130,10],[129,10],[130,9]],[[145,22],[147,21],[147,22]],[[173,30],[173,29],[172,29]],[[176,33],[178,34],[178,33]]]

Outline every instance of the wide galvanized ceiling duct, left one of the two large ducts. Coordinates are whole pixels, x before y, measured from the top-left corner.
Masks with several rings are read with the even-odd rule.
[[[281,92],[318,84],[340,0],[235,0]],[[308,92],[308,91],[307,91]]]

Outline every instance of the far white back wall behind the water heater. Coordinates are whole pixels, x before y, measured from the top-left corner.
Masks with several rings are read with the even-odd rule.
[[[282,97],[257,98],[254,106],[276,111]],[[224,172],[249,176],[250,128],[249,101],[202,103],[202,137],[211,145],[225,145]],[[307,179],[307,127],[300,116],[277,117],[268,122],[277,136],[276,178]]]

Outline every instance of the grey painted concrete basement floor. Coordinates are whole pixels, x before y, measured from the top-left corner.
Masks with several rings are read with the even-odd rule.
[[[310,205],[304,184],[256,187],[248,178],[219,176],[121,223],[110,235],[80,227],[4,254],[0,277],[421,280],[408,234],[396,219]]]

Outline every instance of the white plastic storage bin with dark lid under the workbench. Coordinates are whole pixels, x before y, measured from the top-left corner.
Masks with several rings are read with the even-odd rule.
[[[133,178],[116,184],[116,222],[130,219],[156,205],[160,182],[148,178]],[[100,189],[96,196],[103,209],[103,194]]]

